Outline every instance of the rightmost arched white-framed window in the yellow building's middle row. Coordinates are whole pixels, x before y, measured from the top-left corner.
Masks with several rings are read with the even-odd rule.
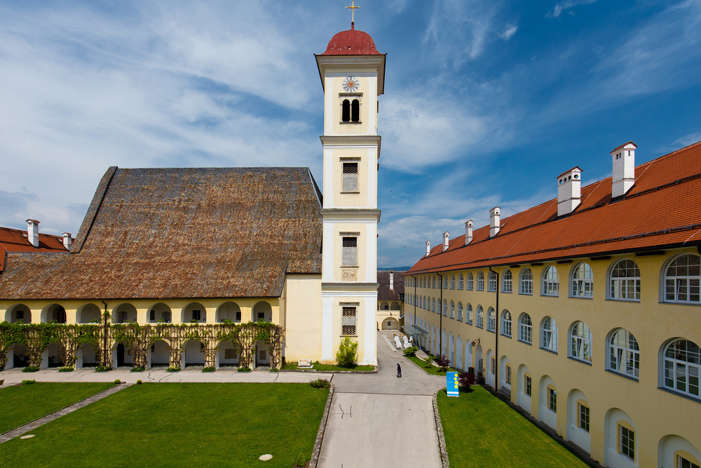
[[[665,348],[665,387],[699,398],[701,349],[689,340],[674,340]]]

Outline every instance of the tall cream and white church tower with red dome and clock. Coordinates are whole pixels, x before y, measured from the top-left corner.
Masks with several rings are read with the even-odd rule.
[[[386,54],[351,22],[315,56],[324,88],[322,360],[334,361],[348,336],[358,340],[358,363],[376,364],[377,97]]]

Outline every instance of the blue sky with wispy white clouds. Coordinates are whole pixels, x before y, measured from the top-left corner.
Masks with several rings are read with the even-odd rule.
[[[0,3],[0,225],[76,234],[108,166],[308,166],[346,1]],[[387,53],[379,267],[701,140],[701,0],[363,1]]]

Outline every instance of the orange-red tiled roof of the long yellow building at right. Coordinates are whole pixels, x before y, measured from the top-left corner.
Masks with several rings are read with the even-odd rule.
[[[611,201],[611,178],[582,189],[580,206],[557,218],[557,199],[436,246],[407,274],[516,265],[630,250],[701,245],[701,142],[635,168],[635,184]]]

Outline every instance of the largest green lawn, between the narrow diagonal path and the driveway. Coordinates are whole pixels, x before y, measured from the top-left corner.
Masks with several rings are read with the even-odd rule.
[[[327,389],[308,384],[132,385],[0,450],[0,467],[290,468],[311,453]],[[269,453],[273,459],[258,460]]]

